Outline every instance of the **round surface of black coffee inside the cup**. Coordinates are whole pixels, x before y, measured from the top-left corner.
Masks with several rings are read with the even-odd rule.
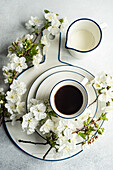
[[[55,105],[59,112],[70,115],[76,113],[83,104],[81,91],[72,85],[62,86],[55,94]]]

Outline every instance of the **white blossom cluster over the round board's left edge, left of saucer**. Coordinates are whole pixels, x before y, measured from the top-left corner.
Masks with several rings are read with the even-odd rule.
[[[15,120],[25,113],[25,102],[22,102],[21,97],[26,92],[26,85],[23,82],[14,80],[10,89],[11,90],[6,93],[7,103],[5,104],[5,107],[10,114],[12,123],[14,124]]]

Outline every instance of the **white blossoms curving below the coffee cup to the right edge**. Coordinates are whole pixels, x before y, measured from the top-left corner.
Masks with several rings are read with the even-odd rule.
[[[101,108],[102,115],[98,120],[93,118],[89,108],[76,119],[62,119],[53,115],[48,117],[47,105],[44,105],[42,102],[40,103],[36,99],[32,99],[30,112],[23,116],[23,130],[26,130],[27,134],[32,134],[38,129],[45,137],[51,134],[51,132],[56,134],[55,148],[57,148],[58,153],[63,155],[70,154],[76,148],[76,144],[82,141],[82,139],[83,143],[88,145],[94,142],[92,136],[95,131],[98,131],[100,134],[104,131],[104,128],[99,128],[97,122],[99,120],[107,120],[106,110],[113,110],[113,79],[112,76],[102,73],[97,75],[91,83],[99,95],[99,100],[105,103],[105,105],[102,105],[105,108]]]

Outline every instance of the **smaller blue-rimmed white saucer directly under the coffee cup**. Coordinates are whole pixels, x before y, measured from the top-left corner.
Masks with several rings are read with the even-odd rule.
[[[52,88],[59,81],[65,80],[65,79],[73,79],[73,80],[81,82],[84,78],[85,77],[82,74],[74,72],[74,71],[67,70],[67,71],[54,72],[48,75],[42,81],[42,83],[38,86],[35,96],[39,100],[49,99],[49,95],[50,95]],[[37,81],[38,79],[36,80],[36,82]],[[94,87],[91,84],[88,83],[88,85],[86,85],[85,88],[88,93],[88,105],[89,105],[92,101],[94,101],[97,98],[97,94],[96,94]],[[96,101],[93,105],[90,106],[90,111],[93,117],[95,117],[96,115],[97,108],[98,108],[98,101]]]

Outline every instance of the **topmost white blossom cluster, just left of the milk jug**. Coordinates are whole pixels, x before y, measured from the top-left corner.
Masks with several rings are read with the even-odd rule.
[[[28,30],[31,30],[37,35],[39,34],[39,30],[47,29],[49,34],[55,36],[63,31],[68,24],[66,17],[59,19],[58,14],[48,10],[44,11],[44,18],[45,21],[39,19],[38,17],[31,16],[30,20],[25,24],[25,26]],[[45,55],[48,51],[48,47],[50,46],[48,35],[42,35],[41,45],[43,46],[43,55]]]

